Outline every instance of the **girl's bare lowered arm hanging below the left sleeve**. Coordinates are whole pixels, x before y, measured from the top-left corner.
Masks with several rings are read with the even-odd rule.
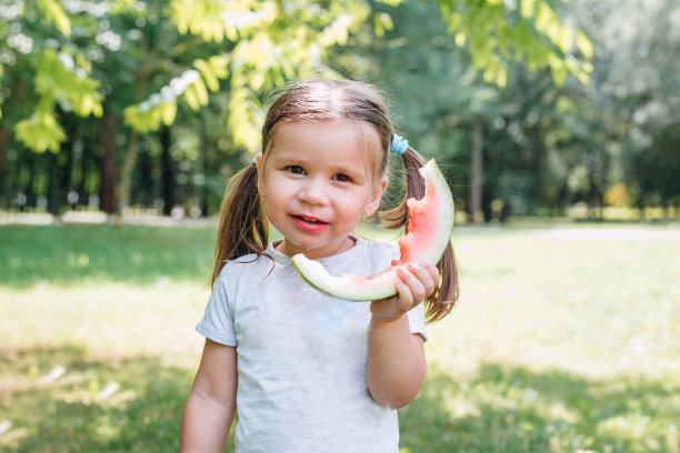
[[[236,412],[236,348],[206,340],[182,414],[180,452],[222,452]]]

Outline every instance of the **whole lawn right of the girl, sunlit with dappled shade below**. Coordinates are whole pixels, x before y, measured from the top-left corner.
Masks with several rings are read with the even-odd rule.
[[[459,231],[412,452],[678,452],[680,238],[643,238]]]

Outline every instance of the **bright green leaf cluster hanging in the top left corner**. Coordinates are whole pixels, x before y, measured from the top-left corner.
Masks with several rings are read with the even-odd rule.
[[[100,83],[89,76],[90,61],[71,40],[64,9],[51,0],[33,6],[19,2],[1,10],[6,20],[0,24],[0,76],[7,88],[2,103],[13,100],[10,111],[3,112],[3,127],[11,124],[18,140],[33,151],[59,152],[66,134],[56,109],[79,117],[101,115],[102,95]]]

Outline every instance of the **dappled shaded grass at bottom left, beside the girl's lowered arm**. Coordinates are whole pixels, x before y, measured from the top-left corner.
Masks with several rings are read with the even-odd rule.
[[[11,423],[2,452],[153,453],[179,450],[193,373],[154,356],[90,358],[63,346],[4,351],[0,379],[0,423]]]

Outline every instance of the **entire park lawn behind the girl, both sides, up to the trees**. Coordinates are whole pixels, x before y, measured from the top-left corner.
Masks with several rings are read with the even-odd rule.
[[[0,451],[177,451],[213,235],[0,228]],[[462,295],[429,328],[403,452],[680,452],[677,231],[470,228],[454,245]]]

